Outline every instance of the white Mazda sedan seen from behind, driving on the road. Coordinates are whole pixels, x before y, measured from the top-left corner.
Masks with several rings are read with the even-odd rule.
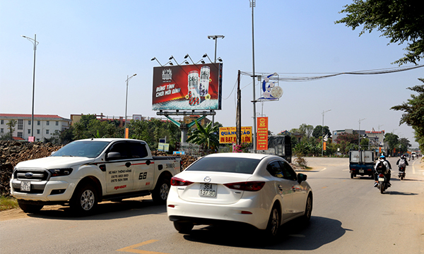
[[[285,222],[310,221],[312,188],[306,178],[274,155],[207,155],[172,177],[167,216],[183,234],[194,225],[241,222],[273,238]]]

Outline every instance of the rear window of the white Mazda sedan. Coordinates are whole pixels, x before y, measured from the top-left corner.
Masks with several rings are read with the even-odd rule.
[[[186,171],[216,171],[253,174],[260,159],[234,157],[204,157],[194,162]]]

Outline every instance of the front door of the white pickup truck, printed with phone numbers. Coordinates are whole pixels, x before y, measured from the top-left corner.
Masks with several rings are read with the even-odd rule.
[[[127,142],[114,143],[107,151],[106,159],[107,194],[132,190],[134,185],[133,167]]]

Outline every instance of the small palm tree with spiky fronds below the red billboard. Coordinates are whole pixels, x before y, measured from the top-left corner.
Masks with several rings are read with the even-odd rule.
[[[196,120],[196,126],[197,129],[193,131],[190,138],[187,138],[187,142],[194,143],[196,145],[204,145],[204,147],[208,147],[208,150],[218,147],[218,125],[212,127],[212,122],[209,122],[204,128]]]

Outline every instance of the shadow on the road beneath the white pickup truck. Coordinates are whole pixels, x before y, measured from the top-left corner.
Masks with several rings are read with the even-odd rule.
[[[48,207],[48,206],[47,206]],[[70,207],[40,210],[29,217],[43,219],[70,219],[70,220],[105,220],[135,217],[145,214],[160,214],[166,212],[165,205],[156,205],[152,200],[122,200],[122,202],[101,202],[95,213],[86,217],[79,217]]]

